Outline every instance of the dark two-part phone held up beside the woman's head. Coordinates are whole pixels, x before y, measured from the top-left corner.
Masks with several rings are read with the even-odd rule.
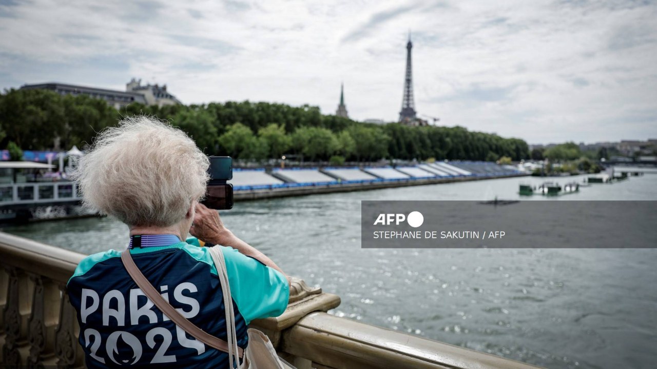
[[[233,208],[233,185],[227,183],[233,179],[233,158],[230,156],[210,156],[210,181],[206,188],[205,199],[201,204],[210,209]]]

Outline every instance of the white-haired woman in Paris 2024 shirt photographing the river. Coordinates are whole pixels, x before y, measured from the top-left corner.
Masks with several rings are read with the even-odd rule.
[[[76,179],[87,206],[128,226],[125,242],[135,264],[166,301],[224,340],[224,304],[233,304],[237,343],[246,348],[251,320],[283,313],[288,279],[228,230],[217,211],[198,204],[208,165],[185,133],[140,116],[103,131],[81,159]],[[223,252],[233,301],[223,301],[208,250],[214,245]],[[189,336],[153,305],[130,278],[120,251],[83,259],[68,281],[68,295],[78,311],[87,368],[229,366],[226,353]]]

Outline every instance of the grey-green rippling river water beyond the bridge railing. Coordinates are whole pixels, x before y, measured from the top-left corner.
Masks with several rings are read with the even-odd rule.
[[[361,200],[515,199],[527,181],[542,182],[524,177],[239,202],[222,217],[288,274],[340,295],[334,315],[546,368],[654,367],[657,250],[360,247]],[[547,201],[564,200],[657,200],[657,174]],[[127,228],[108,218],[4,230],[83,253],[127,242]]]

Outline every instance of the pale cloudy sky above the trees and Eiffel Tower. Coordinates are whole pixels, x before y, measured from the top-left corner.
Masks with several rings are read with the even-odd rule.
[[[396,120],[408,30],[415,104],[530,143],[657,138],[650,0],[0,0],[0,89],[166,83],[227,100]]]

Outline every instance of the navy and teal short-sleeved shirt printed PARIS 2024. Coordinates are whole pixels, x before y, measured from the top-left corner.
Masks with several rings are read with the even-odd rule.
[[[226,340],[221,284],[210,250],[196,238],[170,246],[133,248],[148,281],[185,318]],[[287,307],[288,281],[281,272],[221,247],[231,287],[238,346],[246,348],[251,320],[279,316]],[[86,257],[67,285],[78,311],[79,343],[87,368],[228,368],[228,355],[178,328],[141,292],[120,251]]]

